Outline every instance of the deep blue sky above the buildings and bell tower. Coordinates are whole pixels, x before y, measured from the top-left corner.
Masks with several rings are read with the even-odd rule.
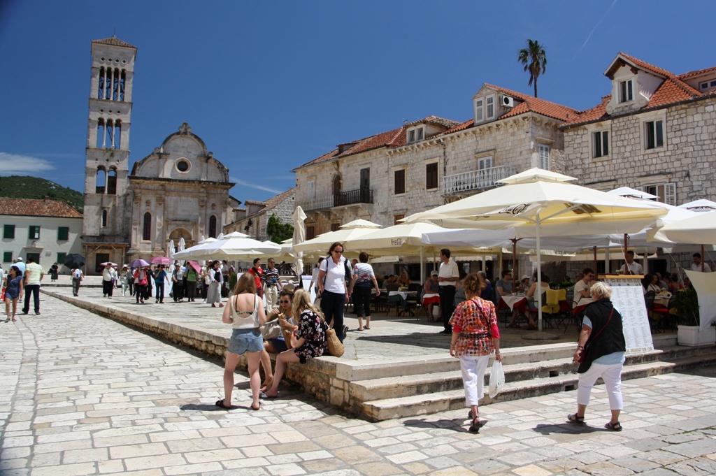
[[[609,94],[619,51],[674,73],[716,66],[703,2],[0,1],[0,175],[84,189],[90,42],[138,48],[130,170],[188,122],[266,200],[337,144],[428,115],[468,120],[483,82],[532,94],[516,60],[547,52],[539,97]],[[700,14],[701,12],[701,14]],[[709,53],[711,52],[711,53]]]

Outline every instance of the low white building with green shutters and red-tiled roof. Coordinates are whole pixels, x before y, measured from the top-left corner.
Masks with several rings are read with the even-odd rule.
[[[67,274],[64,257],[82,248],[82,214],[62,200],[0,198],[0,223],[5,271],[13,260],[32,256],[45,270],[57,262]]]

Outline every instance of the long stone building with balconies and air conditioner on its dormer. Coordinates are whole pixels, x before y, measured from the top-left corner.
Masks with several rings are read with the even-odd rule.
[[[465,122],[430,116],[296,167],[307,238],[364,218],[384,226],[531,167],[563,172],[570,107],[483,84]]]

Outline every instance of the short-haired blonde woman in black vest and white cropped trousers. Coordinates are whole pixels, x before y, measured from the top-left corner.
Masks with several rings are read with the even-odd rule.
[[[584,309],[584,324],[579,335],[579,345],[574,361],[579,362],[579,389],[577,389],[577,412],[567,417],[570,423],[584,424],[584,412],[589,404],[591,387],[596,379],[604,380],[609,397],[611,420],[606,429],[621,432],[619,414],[624,407],[621,398],[621,368],[627,350],[621,314],[614,309],[609,298],[611,288],[597,282],[591,286],[592,302]],[[594,333],[593,333],[594,331]]]

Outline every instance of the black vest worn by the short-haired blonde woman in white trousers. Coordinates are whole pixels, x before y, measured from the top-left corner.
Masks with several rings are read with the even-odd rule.
[[[627,350],[627,343],[624,341],[624,331],[621,327],[621,314],[614,309],[614,314],[609,321],[609,314],[614,309],[609,299],[599,299],[593,303],[587,304],[584,309],[584,316],[589,317],[591,321],[591,334],[586,341],[586,355],[584,361],[579,364],[577,372],[583,374],[591,363],[601,356],[614,354],[614,352],[624,352]],[[606,322],[609,321],[609,325]],[[606,325],[606,328],[604,326]],[[601,329],[604,330],[602,331]],[[600,332],[601,331],[601,332]],[[599,336],[597,334],[599,333]],[[594,339],[596,336],[596,339]]]

